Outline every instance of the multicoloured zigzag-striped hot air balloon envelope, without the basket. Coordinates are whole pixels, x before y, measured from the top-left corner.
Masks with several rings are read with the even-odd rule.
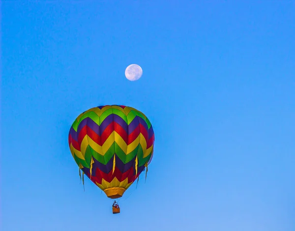
[[[83,176],[116,199],[148,168],[154,133],[147,116],[134,108],[99,106],[74,121],[69,147]]]

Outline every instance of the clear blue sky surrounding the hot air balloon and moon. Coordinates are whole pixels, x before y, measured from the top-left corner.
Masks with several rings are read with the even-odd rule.
[[[255,3],[254,3],[255,2]],[[2,1],[2,231],[294,231],[294,1]],[[143,76],[124,76],[137,63]],[[67,136],[122,104],[148,178],[85,192]]]

